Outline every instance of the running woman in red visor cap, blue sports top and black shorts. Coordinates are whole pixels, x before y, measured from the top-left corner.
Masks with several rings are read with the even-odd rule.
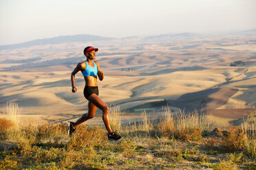
[[[99,80],[102,81],[104,79],[104,73],[100,70],[100,64],[96,61],[93,62],[93,60],[95,60],[95,51],[98,51],[98,49],[93,47],[86,47],[84,49],[84,56],[86,56],[86,61],[78,63],[78,65],[71,73],[73,93],[77,91],[77,88],[75,87],[75,74],[78,73],[78,71],[81,71],[82,75],[84,75],[84,97],[89,101],[89,103],[88,113],[82,114],[82,117],[80,117],[75,122],[69,121],[68,133],[69,136],[71,136],[71,134],[75,132],[75,129],[76,127],[78,127],[78,125],[80,125],[84,121],[87,121],[88,119],[92,119],[95,115],[97,108],[100,108],[103,113],[102,119],[106,126],[106,130],[108,130],[108,140],[119,141],[121,139],[121,136],[113,132],[110,127],[108,106],[104,103],[104,101],[102,101],[102,99],[100,99],[100,97],[98,97],[99,90],[97,87],[97,77],[99,77]]]

